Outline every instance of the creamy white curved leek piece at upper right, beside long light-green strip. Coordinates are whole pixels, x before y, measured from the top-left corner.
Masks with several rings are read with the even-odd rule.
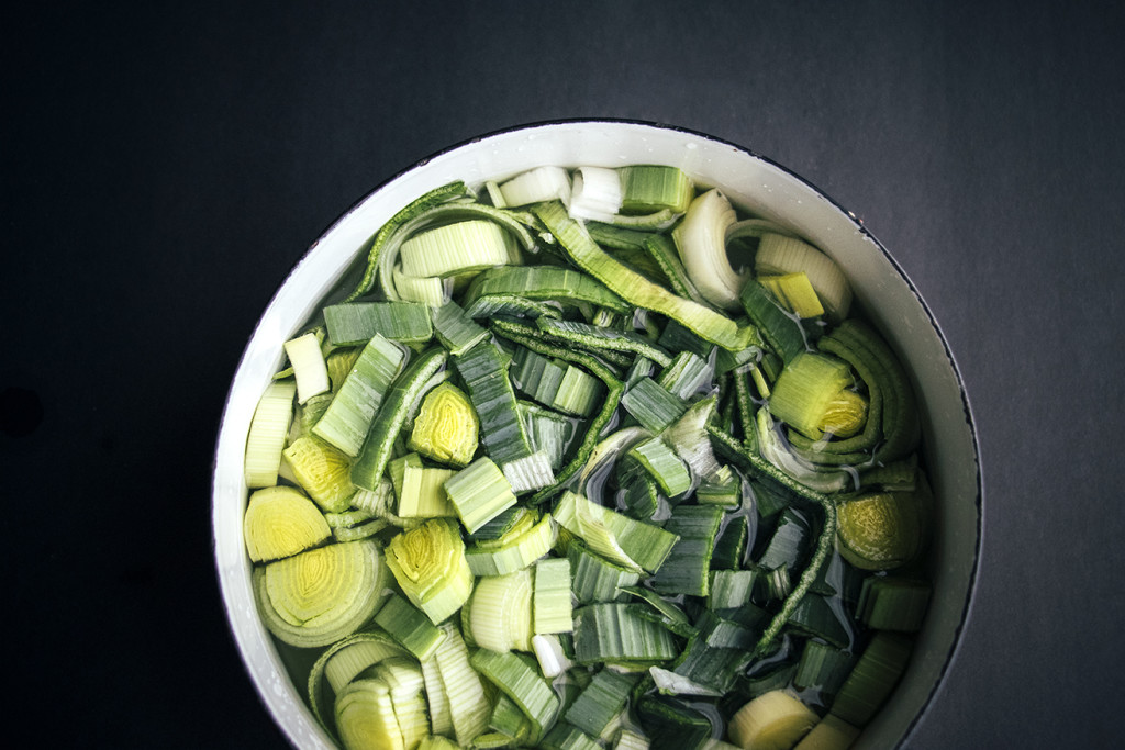
[[[745,275],[730,266],[727,229],[737,220],[730,201],[711,189],[692,200],[683,220],[672,232],[687,277],[710,304],[736,309]]]

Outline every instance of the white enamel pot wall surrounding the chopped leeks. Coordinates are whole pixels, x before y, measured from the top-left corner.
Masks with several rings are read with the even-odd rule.
[[[453,180],[476,183],[540,165],[680,166],[722,186],[742,208],[786,225],[846,269],[864,313],[879,325],[919,394],[924,460],[937,498],[929,615],[910,667],[856,748],[901,744],[934,698],[957,647],[972,598],[981,543],[982,485],[969,400],[950,347],[917,290],[890,253],[844,210],[782,166],[721,139],[655,124],[575,120],[531,125],[475,138],[424,160],[377,188],[317,240],[270,301],[238,363],[215,454],[215,561],[224,606],[250,678],[289,740],[333,747],[287,676],[291,653],[274,647],[258,615],[243,549],[243,451],[259,396],[281,362],[281,345],[345,280],[364,242],[399,208]],[[354,271],[353,271],[354,274]]]

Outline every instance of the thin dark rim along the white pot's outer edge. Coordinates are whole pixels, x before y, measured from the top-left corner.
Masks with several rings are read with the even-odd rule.
[[[238,361],[235,364],[235,368],[233,370],[233,377],[231,378],[230,387],[227,388],[226,398],[223,401],[223,409],[222,409],[222,413],[219,415],[217,430],[215,432],[215,451],[213,452],[213,460],[212,460],[212,471],[210,471],[210,475],[212,475],[212,478],[210,478],[210,508],[209,509],[210,509],[210,519],[212,519],[210,532],[212,532],[212,559],[213,559],[213,563],[214,563],[213,575],[215,576],[216,582],[218,584],[218,591],[217,591],[217,594],[218,594],[219,605],[222,606],[222,609],[223,609],[223,613],[224,613],[224,616],[225,616],[225,620],[226,620],[227,636],[231,639],[233,645],[235,647],[235,650],[238,652],[240,661],[242,662],[242,668],[246,672],[246,676],[250,678],[250,680],[251,680],[251,683],[252,683],[252,685],[254,687],[254,692],[258,695],[258,699],[261,702],[261,704],[266,708],[267,713],[273,720],[273,723],[277,726],[278,731],[280,731],[286,737],[286,739],[289,740],[289,742],[292,743],[294,746],[296,746],[296,738],[290,733],[289,729],[287,726],[285,726],[280,722],[280,717],[273,711],[273,707],[270,704],[270,701],[268,699],[268,696],[266,694],[266,686],[262,685],[258,679],[255,679],[255,676],[254,676],[254,672],[252,670],[252,667],[251,667],[250,663],[248,663],[246,650],[243,648],[243,644],[240,642],[238,633],[237,633],[236,629],[234,627],[234,622],[233,622],[233,614],[234,613],[231,611],[231,607],[228,606],[228,600],[227,600],[227,596],[226,596],[226,594],[227,594],[227,591],[226,591],[226,585],[224,582],[224,577],[223,577],[223,571],[222,571],[222,563],[220,563],[220,560],[219,560],[219,557],[218,557],[218,544],[219,544],[219,542],[218,542],[218,530],[217,530],[216,524],[215,524],[215,518],[216,518],[216,514],[217,514],[218,469],[219,469],[219,463],[220,463],[220,461],[219,461],[219,444],[220,444],[220,439],[222,439],[222,435],[224,434],[224,432],[226,431],[227,417],[228,417],[228,413],[231,410],[231,406],[232,406],[233,398],[234,398],[234,385],[235,385],[236,376],[243,369],[243,367],[246,363],[246,359],[248,359],[248,355],[249,355],[250,349],[251,349],[251,343],[253,342],[254,337],[258,334],[259,326],[261,325],[262,318],[264,317],[266,311],[268,311],[273,306],[273,304],[277,301],[277,298],[280,296],[282,289],[286,286],[288,286],[288,283],[292,279],[294,274],[297,272],[297,270],[303,265],[303,263],[307,259],[308,254],[325,237],[327,237],[330,234],[332,234],[335,231],[335,228],[340,224],[342,224],[351,214],[353,214],[361,205],[366,204],[372,196],[375,196],[376,193],[380,192],[386,187],[388,187],[393,182],[399,180],[404,175],[413,172],[416,169],[425,166],[431,161],[436,160],[436,159],[439,159],[441,156],[444,156],[446,154],[459,151],[461,148],[471,146],[471,145],[476,144],[476,143],[479,143],[482,141],[487,141],[487,139],[496,137],[496,136],[510,135],[510,134],[513,134],[513,133],[521,133],[521,132],[525,132],[525,130],[539,130],[539,129],[544,129],[544,128],[575,127],[575,126],[600,126],[600,125],[610,125],[610,126],[614,126],[614,127],[616,127],[616,126],[634,126],[634,127],[640,127],[640,128],[646,128],[646,129],[656,129],[656,130],[663,130],[663,132],[681,133],[681,134],[684,134],[684,135],[688,135],[688,136],[691,136],[693,138],[700,138],[700,139],[703,139],[703,141],[712,142],[714,144],[721,145],[721,146],[727,146],[727,147],[734,148],[734,150],[739,151],[739,152],[741,152],[741,153],[744,153],[744,154],[746,154],[746,155],[748,155],[748,156],[750,156],[750,157],[753,157],[753,159],[755,159],[757,161],[763,162],[764,164],[766,164],[766,165],[768,165],[768,166],[777,170],[778,172],[782,172],[788,178],[790,178],[792,180],[795,180],[796,182],[803,184],[806,188],[808,188],[809,190],[811,190],[818,197],[820,197],[824,200],[828,201],[828,204],[830,204],[837,211],[839,211],[842,215],[846,216],[847,219],[853,224],[855,231],[858,232],[858,233],[861,233],[870,243],[872,243],[874,245],[874,247],[876,247],[879,250],[879,252],[883,255],[883,259],[891,265],[891,268],[894,270],[894,272],[907,284],[907,288],[909,289],[910,295],[915,298],[915,300],[917,301],[917,304],[920,306],[922,313],[926,316],[926,319],[928,320],[929,325],[933,327],[934,333],[936,334],[938,342],[940,342],[940,345],[943,347],[946,361],[948,362],[948,365],[950,365],[950,370],[951,370],[951,372],[953,374],[953,378],[954,378],[954,381],[956,383],[957,394],[958,394],[958,396],[961,398],[961,406],[962,406],[962,409],[963,409],[963,413],[964,413],[964,425],[965,425],[965,428],[968,431],[968,435],[969,435],[970,443],[971,443],[971,446],[972,446],[973,458],[975,459],[975,464],[974,464],[974,468],[975,468],[975,471],[974,471],[974,475],[975,475],[974,476],[975,495],[974,495],[974,498],[973,498],[973,507],[975,509],[975,523],[973,524],[974,525],[974,531],[975,531],[975,539],[973,540],[973,545],[972,545],[972,553],[973,553],[972,554],[972,560],[970,561],[970,566],[968,568],[968,582],[966,582],[965,593],[964,593],[964,602],[962,603],[962,606],[961,606],[961,613],[960,613],[960,616],[958,616],[958,620],[957,620],[957,625],[956,625],[956,627],[954,629],[954,631],[952,633],[952,641],[950,643],[947,652],[944,656],[944,659],[942,660],[940,667],[937,669],[937,671],[935,674],[934,684],[930,686],[929,692],[926,695],[925,699],[922,701],[922,703],[921,703],[920,707],[918,708],[918,711],[915,713],[915,715],[910,719],[910,721],[903,728],[901,737],[899,738],[896,747],[902,747],[911,738],[911,735],[915,733],[915,731],[917,730],[917,728],[919,726],[919,724],[922,722],[922,720],[929,713],[929,710],[933,706],[935,698],[943,690],[943,688],[944,688],[944,686],[946,684],[946,676],[947,676],[947,674],[948,674],[948,671],[950,671],[950,669],[951,669],[954,660],[957,658],[957,654],[961,651],[961,648],[962,648],[962,635],[963,635],[963,633],[964,633],[964,631],[965,631],[965,629],[966,629],[966,626],[969,624],[970,617],[972,615],[973,604],[975,602],[976,585],[978,585],[978,580],[976,579],[978,579],[978,577],[980,575],[981,551],[982,551],[983,541],[984,541],[984,481],[983,481],[983,467],[982,467],[982,461],[981,461],[982,457],[981,457],[981,449],[980,449],[980,440],[978,437],[978,432],[976,432],[976,423],[975,423],[975,419],[973,418],[972,405],[970,403],[968,389],[965,388],[964,378],[963,378],[963,376],[961,373],[961,368],[957,365],[956,358],[954,356],[953,351],[950,347],[950,343],[948,343],[948,341],[947,341],[947,338],[945,336],[945,333],[942,331],[942,327],[938,324],[937,318],[934,316],[933,310],[930,310],[929,306],[926,304],[925,298],[921,296],[920,291],[918,290],[917,286],[915,284],[914,280],[909,277],[909,274],[904,271],[904,269],[899,264],[899,262],[894,259],[894,256],[890,253],[890,251],[883,245],[883,243],[881,243],[879,241],[879,238],[875,237],[875,235],[872,234],[872,232],[870,229],[867,229],[866,226],[864,226],[863,222],[853,211],[850,211],[849,209],[845,208],[839,201],[837,201],[835,198],[832,198],[829,193],[827,193],[824,190],[821,190],[819,187],[817,187],[813,182],[809,181],[807,178],[804,178],[801,174],[794,172],[793,170],[791,170],[790,168],[785,166],[784,164],[781,164],[781,163],[774,161],[773,159],[771,159],[768,156],[765,156],[765,155],[758,153],[757,151],[754,151],[753,148],[744,146],[744,145],[741,145],[739,143],[736,143],[734,141],[730,141],[728,138],[723,138],[723,137],[716,136],[716,135],[712,135],[712,134],[709,134],[709,133],[696,130],[696,129],[691,128],[691,127],[685,127],[685,126],[681,126],[681,125],[673,125],[673,124],[668,124],[668,123],[660,123],[660,121],[656,121],[656,120],[646,120],[646,119],[639,119],[639,118],[621,118],[621,117],[550,118],[550,119],[542,119],[542,120],[530,120],[530,121],[525,121],[525,123],[519,124],[519,125],[505,126],[505,127],[501,127],[501,128],[496,128],[496,129],[493,129],[493,130],[488,130],[488,132],[485,132],[485,133],[482,133],[479,135],[475,135],[475,136],[471,136],[471,137],[468,137],[468,138],[464,138],[464,139],[461,139],[459,142],[456,142],[456,143],[450,144],[450,145],[447,145],[447,146],[444,146],[444,147],[442,147],[442,148],[440,148],[438,151],[431,152],[429,155],[423,156],[422,159],[418,159],[418,160],[410,163],[408,165],[399,169],[398,171],[396,171],[395,173],[393,173],[388,178],[379,181],[374,187],[371,187],[370,189],[368,189],[362,196],[360,196],[350,206],[348,206],[348,208],[344,209],[335,219],[333,219],[330,224],[327,224],[325,226],[325,228],[316,236],[316,240],[312,244],[309,244],[304,250],[304,252],[300,254],[300,256],[290,265],[289,270],[286,272],[285,278],[282,279],[282,281],[280,282],[280,284],[278,286],[278,288],[273,291],[273,293],[270,296],[269,301],[267,301],[266,306],[262,308],[262,315],[259,315],[254,327],[251,329],[250,334],[248,335],[248,337],[246,337],[246,344],[243,346],[242,354],[238,356]]]

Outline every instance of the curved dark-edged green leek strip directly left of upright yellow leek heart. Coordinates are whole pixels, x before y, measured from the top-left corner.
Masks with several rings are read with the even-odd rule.
[[[395,439],[406,422],[411,407],[422,398],[430,378],[446,365],[449,354],[441,346],[432,346],[415,355],[395,379],[371,423],[371,432],[351,468],[351,481],[357,487],[375,491],[390,461]]]

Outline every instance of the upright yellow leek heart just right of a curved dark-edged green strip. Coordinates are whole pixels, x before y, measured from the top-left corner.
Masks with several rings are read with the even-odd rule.
[[[477,451],[479,426],[469,397],[453,383],[443,382],[422,401],[407,448],[460,468],[468,464]]]

